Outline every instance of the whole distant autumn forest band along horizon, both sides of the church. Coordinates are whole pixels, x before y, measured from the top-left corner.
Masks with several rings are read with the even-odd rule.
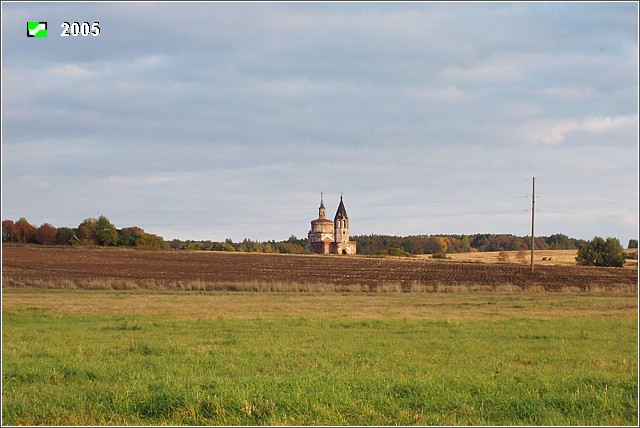
[[[365,255],[414,255],[451,254],[473,251],[529,250],[530,236],[477,233],[475,235],[360,235],[351,239],[358,243],[358,254]],[[117,229],[105,216],[88,218],[77,227],[59,227],[45,223],[39,227],[25,218],[2,221],[2,242],[18,242],[42,245],[131,247],[160,250],[239,251],[259,253],[302,254],[307,252],[307,239],[291,236],[286,241],[253,241],[244,239],[233,242],[202,240],[165,241],[161,236],[146,233],[132,226]],[[569,238],[563,234],[539,236],[535,239],[537,250],[573,250],[584,240]],[[636,244],[637,245],[637,244]]]

